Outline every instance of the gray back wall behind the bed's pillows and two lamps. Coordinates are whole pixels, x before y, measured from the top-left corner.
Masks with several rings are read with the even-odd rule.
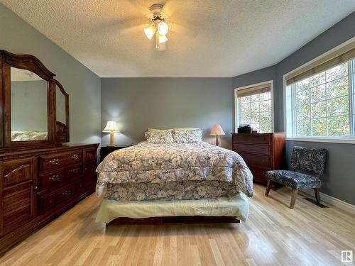
[[[148,127],[185,126],[202,128],[204,140],[214,143],[209,132],[220,124],[226,133],[220,145],[231,148],[230,78],[105,78],[101,88],[102,128],[109,120],[118,122],[116,145],[138,143]],[[102,137],[103,145],[109,143],[107,133]]]

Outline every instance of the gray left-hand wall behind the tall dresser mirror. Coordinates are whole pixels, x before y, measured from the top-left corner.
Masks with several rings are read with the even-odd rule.
[[[38,57],[70,96],[70,142],[99,143],[100,78],[0,4],[0,49]]]

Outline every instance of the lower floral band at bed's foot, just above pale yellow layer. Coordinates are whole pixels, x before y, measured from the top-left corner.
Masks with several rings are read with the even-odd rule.
[[[108,184],[104,198],[116,201],[171,201],[214,199],[235,194],[238,191],[230,182],[181,181]]]

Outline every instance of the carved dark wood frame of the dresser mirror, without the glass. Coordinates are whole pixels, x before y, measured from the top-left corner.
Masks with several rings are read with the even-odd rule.
[[[11,140],[11,67],[29,70],[47,81],[48,138],[47,140]],[[0,150],[26,148],[30,146],[48,146],[69,141],[69,96],[62,85],[54,79],[37,57],[33,55],[15,55],[0,50]],[[65,95],[66,125],[56,121],[56,86]],[[34,118],[35,119],[35,118]],[[61,125],[58,126],[58,123]]]

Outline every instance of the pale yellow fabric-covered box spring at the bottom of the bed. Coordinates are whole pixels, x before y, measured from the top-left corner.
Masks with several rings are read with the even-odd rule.
[[[217,199],[182,201],[115,201],[104,199],[96,221],[109,223],[115,218],[148,218],[162,216],[233,216],[246,221],[249,201],[246,195],[236,194]]]

